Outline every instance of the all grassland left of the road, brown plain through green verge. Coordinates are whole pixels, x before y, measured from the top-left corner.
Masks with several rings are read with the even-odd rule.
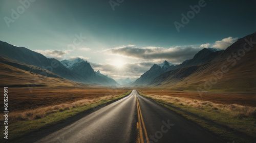
[[[11,89],[9,89],[9,91],[11,91]],[[23,95],[21,96],[21,98],[19,98],[19,96],[16,95],[18,92],[23,93],[19,94]],[[8,121],[11,123],[8,127],[11,136],[9,139],[11,140],[17,137],[24,136],[25,134],[31,133],[33,131],[40,130],[42,128],[49,127],[52,125],[56,125],[62,121],[67,120],[68,118],[72,118],[78,115],[81,112],[94,108],[98,109],[98,106],[104,106],[108,102],[129,95],[131,93],[131,90],[128,91],[121,89],[56,88],[51,89],[51,92],[49,92],[51,94],[49,94],[45,93],[43,88],[37,88],[31,94],[28,94],[26,92],[26,89],[19,89],[18,92],[9,92],[10,97],[11,95],[16,95],[15,102],[18,102],[15,103],[13,101],[10,101],[10,103],[14,103],[10,104],[10,107],[14,106],[14,109],[16,109],[10,112],[8,116]],[[62,100],[58,101],[59,98],[53,98],[54,96],[60,96]],[[30,99],[31,103],[35,103],[33,103],[32,105],[25,104],[26,107],[24,107],[23,110],[18,110],[16,106],[20,104],[20,102],[28,101]],[[45,99],[49,100],[47,102],[48,105],[41,104],[44,102]],[[4,138],[3,135],[1,135],[1,139],[2,138]]]

